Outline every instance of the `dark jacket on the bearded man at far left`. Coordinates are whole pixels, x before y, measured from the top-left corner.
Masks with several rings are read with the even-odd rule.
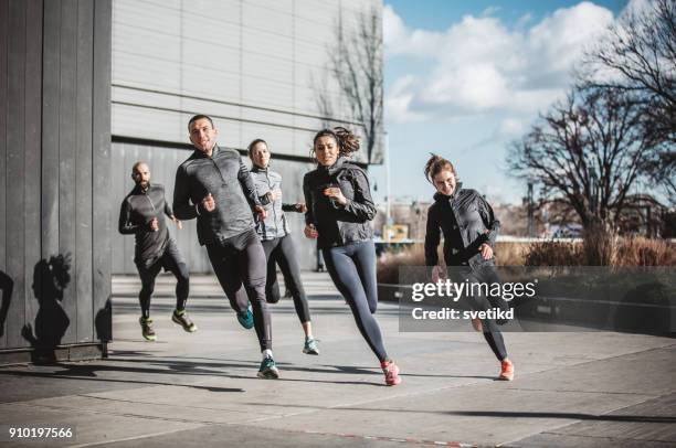
[[[165,215],[171,217],[173,212],[165,200],[165,188],[152,183],[148,190],[136,185],[125,198],[119,210],[119,233],[136,236],[134,262],[151,266],[157,262],[169,242],[169,230]],[[150,230],[150,221],[157,217],[159,230]]]

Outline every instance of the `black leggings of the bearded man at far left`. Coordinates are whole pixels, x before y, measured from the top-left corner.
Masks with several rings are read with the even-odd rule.
[[[181,258],[173,239],[169,238],[165,253],[157,262],[149,267],[145,267],[142,264],[137,263],[136,268],[141,279],[141,290],[138,294],[138,301],[144,318],[150,317],[150,297],[152,296],[152,291],[155,291],[155,279],[161,268],[171,271],[177,279],[176,309],[179,311],[186,309],[186,301],[190,292],[190,275],[188,273],[188,266],[186,266],[186,263]]]

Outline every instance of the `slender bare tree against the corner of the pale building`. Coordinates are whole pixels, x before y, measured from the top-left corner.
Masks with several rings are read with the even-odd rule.
[[[369,162],[378,161],[376,153],[383,132],[383,43],[382,22],[376,7],[357,14],[356,24],[348,25],[341,17],[335,24],[336,40],[327,47],[329,74],[338,86],[351,117],[363,132]],[[327,93],[326,81],[315,81],[320,113],[334,122],[341,122],[335,113],[345,109]]]

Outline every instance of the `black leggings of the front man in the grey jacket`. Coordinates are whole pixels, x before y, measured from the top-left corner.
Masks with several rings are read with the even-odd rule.
[[[208,244],[207,253],[230,306],[237,312],[251,301],[261,351],[272,350],[272,322],[265,301],[265,253],[252,228],[221,243]],[[237,295],[244,287],[246,295]]]

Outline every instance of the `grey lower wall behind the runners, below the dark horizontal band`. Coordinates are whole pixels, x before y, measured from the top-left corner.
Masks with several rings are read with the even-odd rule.
[[[216,122],[216,126],[220,126],[220,124]],[[134,188],[130,174],[135,162],[140,160],[148,163],[151,172],[151,182],[165,185],[167,200],[171,203],[176,170],[191,153],[190,150],[184,149],[122,142],[113,143],[112,152],[112,194],[116,213],[119,212],[123,199]],[[245,158],[245,163],[250,164],[247,158]],[[272,167],[273,170],[283,175],[284,201],[303,202],[303,175],[314,167],[310,163],[288,160],[274,160]],[[116,225],[117,217],[115,216],[114,218]],[[303,227],[305,226],[303,216],[299,213],[287,213],[287,217],[292,225],[292,235],[299,252],[302,267],[304,269],[311,269],[315,267],[315,244],[303,236]],[[186,258],[190,271],[211,274],[212,269],[207,256],[207,249],[200,246],[197,241],[196,226],[196,220],[184,222],[181,231],[170,223],[169,232]],[[110,246],[113,248],[113,274],[136,275],[134,236],[120,235],[115,231]]]

